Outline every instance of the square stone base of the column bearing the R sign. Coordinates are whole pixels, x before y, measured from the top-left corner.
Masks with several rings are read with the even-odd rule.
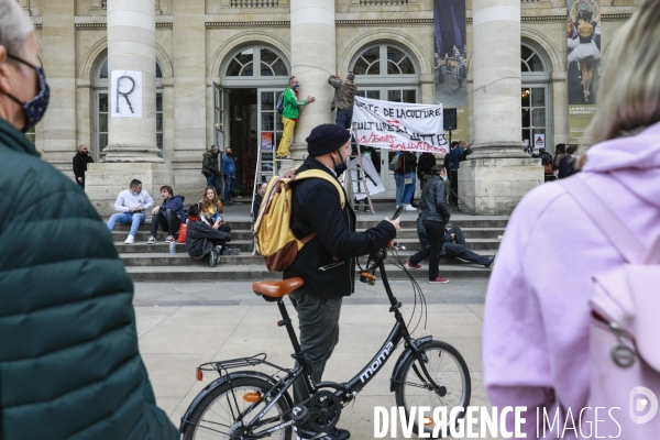
[[[162,201],[161,187],[174,187],[172,164],[103,162],[88,165],[85,193],[99,215],[107,217],[116,212],[117,196],[120,191],[129,189],[134,178],[142,182],[142,188],[146,189],[156,205]]]

